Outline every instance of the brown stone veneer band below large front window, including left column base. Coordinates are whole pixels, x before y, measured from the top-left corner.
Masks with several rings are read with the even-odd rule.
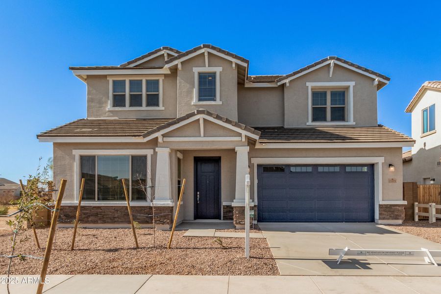
[[[151,206],[131,206],[133,221],[143,227],[151,227]],[[77,206],[61,206],[59,221],[60,227],[73,224]],[[158,229],[169,229],[173,224],[173,206],[155,206],[155,225]],[[125,227],[130,225],[127,206],[81,206],[80,224],[96,225],[97,227]]]

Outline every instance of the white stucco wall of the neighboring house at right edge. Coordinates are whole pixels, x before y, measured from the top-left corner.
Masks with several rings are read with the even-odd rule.
[[[426,90],[412,111],[412,138],[416,140],[412,147],[412,161],[403,164],[405,182],[424,184],[423,178],[435,178],[435,184],[441,184],[441,167],[437,161],[441,158],[441,91]],[[435,104],[435,133],[422,135],[422,110]]]

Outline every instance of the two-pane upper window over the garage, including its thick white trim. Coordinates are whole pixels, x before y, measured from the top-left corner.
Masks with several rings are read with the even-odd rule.
[[[355,82],[307,82],[307,125],[355,124],[353,86]]]

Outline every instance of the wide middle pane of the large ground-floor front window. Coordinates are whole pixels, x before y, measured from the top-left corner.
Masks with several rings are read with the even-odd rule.
[[[129,181],[129,156],[97,156],[98,201],[124,201],[122,179]]]

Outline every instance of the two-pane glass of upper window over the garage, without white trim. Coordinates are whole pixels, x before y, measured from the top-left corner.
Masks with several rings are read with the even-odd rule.
[[[312,122],[345,122],[345,96],[345,90],[313,91]]]

